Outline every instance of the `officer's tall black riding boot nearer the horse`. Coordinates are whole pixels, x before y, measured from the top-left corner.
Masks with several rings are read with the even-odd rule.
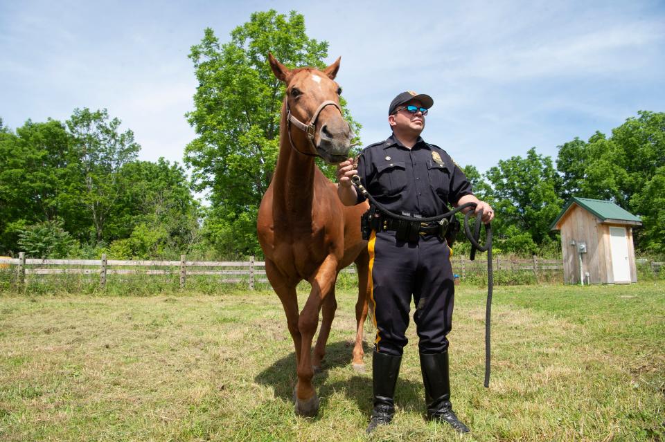
[[[378,425],[385,425],[393,420],[395,414],[395,385],[400,374],[402,356],[392,356],[374,352],[372,358],[372,387],[374,392],[374,409],[367,426],[367,434],[373,432]]]

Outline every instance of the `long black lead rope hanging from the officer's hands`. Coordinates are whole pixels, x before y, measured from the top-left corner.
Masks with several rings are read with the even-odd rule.
[[[366,197],[366,199],[369,199],[369,201],[376,206],[376,208],[384,213],[387,214],[389,217],[393,217],[396,219],[400,219],[402,221],[418,221],[419,223],[431,223],[431,222],[441,222],[443,219],[446,219],[448,217],[451,217],[452,215],[456,214],[457,212],[460,212],[461,210],[464,210],[465,208],[475,208],[477,206],[477,203],[465,203],[462,205],[459,205],[458,207],[454,208],[450,212],[446,212],[441,215],[437,215],[436,217],[428,217],[428,218],[416,218],[416,217],[406,217],[405,215],[401,214],[396,214],[385,208],[381,203],[376,201],[373,196],[367,190],[365,187],[360,183],[360,176],[354,175],[351,177],[351,182],[355,184],[355,186],[362,192],[363,196]],[[488,388],[490,386],[490,370],[491,370],[491,336],[490,336],[490,329],[491,329],[491,322],[492,322],[492,293],[493,293],[493,288],[494,288],[494,272],[492,268],[492,226],[488,223],[485,224],[485,233],[486,233],[486,239],[485,239],[485,245],[481,246],[478,243],[478,240],[480,239],[480,225],[482,223],[481,219],[483,217],[483,211],[481,210],[476,214],[476,222],[475,222],[475,230],[472,233],[470,226],[469,226],[469,219],[471,217],[472,210],[466,212],[464,214],[464,234],[466,237],[469,239],[471,242],[471,256],[470,259],[471,261],[475,260],[476,257],[476,250],[480,250],[481,252],[487,252],[487,303],[485,307],[485,381],[484,381],[484,386],[485,388]]]

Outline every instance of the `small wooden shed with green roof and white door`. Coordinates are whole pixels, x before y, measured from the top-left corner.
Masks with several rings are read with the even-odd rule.
[[[569,199],[551,225],[561,231],[565,284],[637,282],[632,228],[640,225],[612,201]]]

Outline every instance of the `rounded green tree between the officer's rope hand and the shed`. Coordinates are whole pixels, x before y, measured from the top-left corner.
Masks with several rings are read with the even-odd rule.
[[[502,248],[520,250],[526,245],[530,251],[535,246],[549,246],[556,234],[549,226],[561,210],[560,177],[549,156],[543,157],[529,149],[526,158],[513,156],[499,160],[486,177],[493,186],[496,218],[495,231],[504,242]],[[524,233],[528,234],[525,236]],[[515,239],[517,238],[517,239]],[[501,246],[501,245],[499,245]]]

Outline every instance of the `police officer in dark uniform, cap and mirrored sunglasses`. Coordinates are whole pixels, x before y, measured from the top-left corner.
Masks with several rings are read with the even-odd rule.
[[[366,147],[357,170],[352,158],[337,166],[337,194],[345,205],[365,200],[351,183],[362,185],[391,212],[409,217],[434,217],[475,202],[489,223],[494,213],[473,196],[471,184],[443,149],[420,138],[425,116],[434,104],[429,95],[402,92],[390,103],[387,140]],[[468,209],[472,210],[472,209]],[[452,328],[454,284],[450,248],[437,223],[412,223],[373,216],[368,249],[372,277],[371,308],[377,329],[372,360],[374,409],[367,432],[389,423],[396,380],[407,344],[411,296],[416,312],[420,369],[425,385],[427,418],[447,422],[458,432],[469,429],[450,403],[447,333]]]

